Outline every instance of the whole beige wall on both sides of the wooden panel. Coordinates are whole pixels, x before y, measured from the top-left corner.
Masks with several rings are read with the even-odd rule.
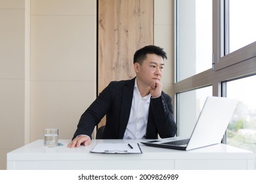
[[[173,1],[155,0],[154,44],[172,94]],[[96,0],[0,0],[0,169],[6,154],[58,127],[70,139],[96,97]]]

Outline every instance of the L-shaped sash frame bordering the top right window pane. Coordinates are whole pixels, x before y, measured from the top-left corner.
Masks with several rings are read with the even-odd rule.
[[[213,1],[213,69],[224,67],[256,57],[256,41],[228,54],[229,0]]]

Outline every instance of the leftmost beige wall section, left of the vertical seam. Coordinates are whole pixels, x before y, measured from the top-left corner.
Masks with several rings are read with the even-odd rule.
[[[0,169],[6,168],[7,152],[25,142],[29,4],[0,1]]]

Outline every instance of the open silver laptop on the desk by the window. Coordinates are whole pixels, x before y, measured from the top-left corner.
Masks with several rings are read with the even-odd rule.
[[[190,138],[172,137],[141,143],[178,150],[192,150],[218,144],[223,139],[237,103],[237,99],[207,97]]]

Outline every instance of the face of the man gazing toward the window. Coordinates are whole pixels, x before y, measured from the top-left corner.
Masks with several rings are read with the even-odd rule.
[[[142,65],[135,63],[137,80],[143,84],[150,85],[153,80],[161,80],[163,71],[163,58],[156,54],[147,54]]]

